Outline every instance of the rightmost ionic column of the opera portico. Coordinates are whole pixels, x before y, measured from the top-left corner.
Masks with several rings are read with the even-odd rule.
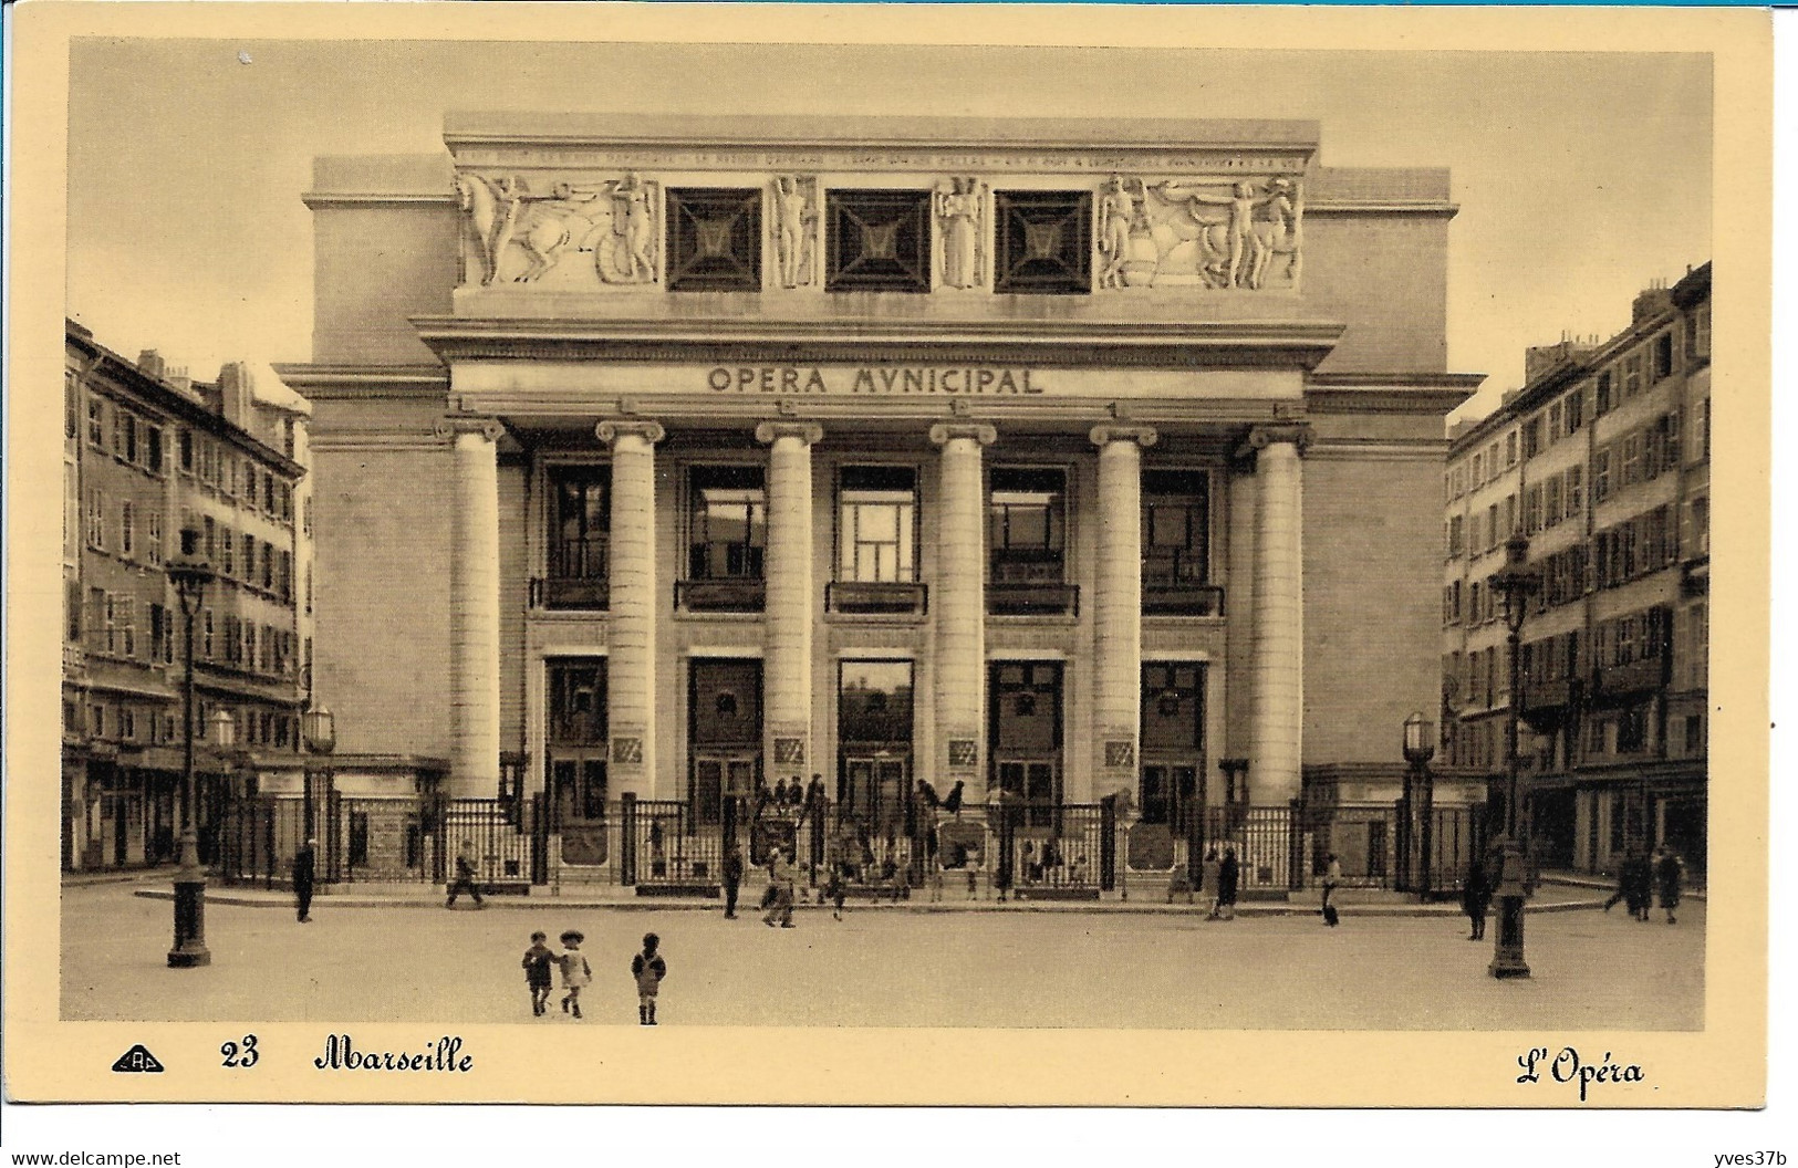
[[[1305,566],[1298,456],[1309,444],[1305,424],[1257,426],[1248,438],[1257,494],[1248,794],[1257,807],[1284,807],[1302,787]]]

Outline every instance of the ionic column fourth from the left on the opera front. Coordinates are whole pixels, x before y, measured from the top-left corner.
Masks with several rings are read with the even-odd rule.
[[[931,774],[948,791],[967,783],[964,798],[985,801],[985,672],[987,672],[987,564],[984,447],[998,438],[985,424],[944,422],[930,428],[942,447],[937,480],[937,571],[930,607],[935,613],[937,746]]]

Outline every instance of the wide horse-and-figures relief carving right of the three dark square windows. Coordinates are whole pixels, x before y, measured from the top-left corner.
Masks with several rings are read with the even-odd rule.
[[[1099,205],[1099,286],[1298,288],[1304,183],[1113,178]]]

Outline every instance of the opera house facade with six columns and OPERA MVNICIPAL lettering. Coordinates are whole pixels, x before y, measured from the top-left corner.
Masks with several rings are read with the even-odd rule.
[[[1381,803],[1446,171],[1311,122],[450,115],[318,158],[318,694],[458,796]],[[1232,762],[1223,767],[1223,762]]]

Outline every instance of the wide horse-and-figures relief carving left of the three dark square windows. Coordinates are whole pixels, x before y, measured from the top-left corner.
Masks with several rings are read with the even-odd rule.
[[[570,255],[590,255],[604,284],[656,280],[662,190],[629,173],[613,180],[557,181],[532,190],[521,174],[458,174],[457,203],[471,246],[464,284],[530,284],[556,271],[565,277]]]

